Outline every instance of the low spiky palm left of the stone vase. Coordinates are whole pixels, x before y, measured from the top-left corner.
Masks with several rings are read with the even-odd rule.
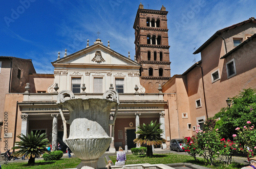
[[[12,149],[19,149],[13,153],[13,156],[29,158],[28,164],[35,163],[35,157],[40,156],[44,153],[49,153],[46,149],[49,140],[46,138],[46,133],[40,134],[38,131],[33,133],[27,133],[27,136],[20,134],[17,136],[20,139],[20,142],[15,142],[15,147]]]

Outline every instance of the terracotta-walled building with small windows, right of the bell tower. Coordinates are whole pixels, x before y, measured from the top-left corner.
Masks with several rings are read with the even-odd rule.
[[[201,53],[201,61],[165,83],[166,136],[195,134],[207,118],[227,106],[227,98],[256,88],[255,33],[253,17],[217,31],[194,52]]]

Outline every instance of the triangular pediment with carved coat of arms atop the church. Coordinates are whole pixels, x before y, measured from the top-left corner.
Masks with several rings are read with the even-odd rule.
[[[118,65],[118,66],[140,66],[133,60],[124,57],[120,53],[100,43],[94,44],[67,57],[52,62],[54,65]]]

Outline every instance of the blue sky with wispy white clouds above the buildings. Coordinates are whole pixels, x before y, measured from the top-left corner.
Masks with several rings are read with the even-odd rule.
[[[171,76],[201,55],[193,52],[216,31],[256,17],[254,0],[21,0],[0,1],[0,55],[32,59],[37,73],[53,73],[51,62],[98,38],[122,55],[135,54],[133,24],[144,9],[168,11]],[[194,49],[195,48],[195,49]]]

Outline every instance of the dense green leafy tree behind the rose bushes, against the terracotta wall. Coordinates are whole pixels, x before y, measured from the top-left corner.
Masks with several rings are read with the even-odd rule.
[[[245,89],[238,96],[233,97],[230,107],[222,108],[214,118],[217,121],[216,128],[221,131],[224,138],[232,138],[232,134],[237,134],[236,128],[244,126],[247,121],[251,125],[256,125],[256,90]]]

